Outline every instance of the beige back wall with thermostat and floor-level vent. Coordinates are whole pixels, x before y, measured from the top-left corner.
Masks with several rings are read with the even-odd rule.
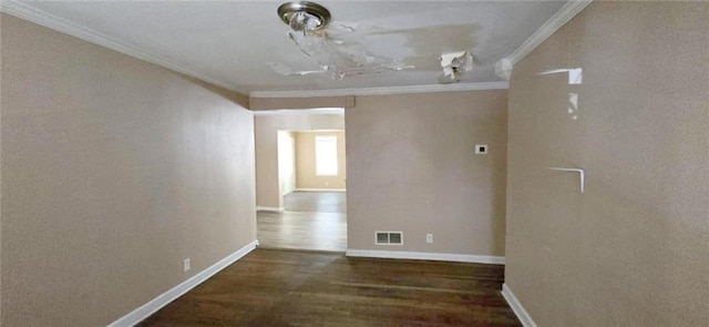
[[[507,90],[358,96],[346,110],[348,248],[503,256],[506,104]],[[402,231],[403,246],[374,245],[376,231]]]

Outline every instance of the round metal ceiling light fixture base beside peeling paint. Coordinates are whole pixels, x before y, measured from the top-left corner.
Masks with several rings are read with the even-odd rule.
[[[292,1],[278,7],[278,17],[295,31],[314,31],[328,24],[330,11],[315,2]]]

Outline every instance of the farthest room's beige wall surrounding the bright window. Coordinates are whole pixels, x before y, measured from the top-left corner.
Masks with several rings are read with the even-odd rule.
[[[316,174],[316,136],[337,137],[337,175],[318,176]],[[345,156],[345,132],[299,132],[296,133],[296,173],[299,190],[345,190],[347,178],[347,160]]]

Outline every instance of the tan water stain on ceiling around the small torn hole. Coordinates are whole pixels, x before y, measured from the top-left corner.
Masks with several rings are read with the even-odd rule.
[[[372,35],[402,35],[404,47],[414,54],[404,58],[404,64],[417,70],[438,71],[441,69],[439,58],[442,53],[472,51],[477,44],[477,33],[482,27],[476,23],[432,25],[417,29],[371,32]]]

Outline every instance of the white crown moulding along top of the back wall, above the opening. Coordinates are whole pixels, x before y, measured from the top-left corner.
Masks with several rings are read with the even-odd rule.
[[[431,93],[452,91],[477,91],[477,90],[506,90],[510,89],[507,82],[487,83],[458,83],[458,84],[430,84],[412,86],[391,88],[360,88],[360,89],[330,89],[309,91],[251,91],[250,98],[315,98],[315,96],[343,96],[343,95],[387,95],[408,93]]]

